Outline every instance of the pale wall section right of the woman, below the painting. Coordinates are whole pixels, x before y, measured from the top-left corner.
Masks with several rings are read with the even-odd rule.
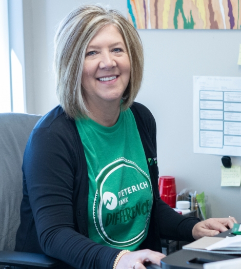
[[[239,30],[140,30],[145,78],[137,100],[157,123],[159,175],[172,175],[177,191],[208,195],[213,217],[241,221],[240,187],[220,187],[219,155],[193,153],[193,75],[240,76]],[[241,149],[240,149],[241,155]],[[231,157],[241,165],[240,157]]]

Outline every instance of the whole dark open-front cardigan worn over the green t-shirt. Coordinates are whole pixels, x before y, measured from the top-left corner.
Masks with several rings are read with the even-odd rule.
[[[135,117],[153,188],[148,235],[140,249],[162,252],[160,238],[193,241],[199,221],[176,213],[158,192],[156,125],[151,112],[134,102]],[[36,124],[24,154],[21,224],[15,251],[45,253],[66,263],[63,268],[113,267],[120,252],[88,238],[88,171],[75,121],[57,106]],[[71,265],[71,266],[70,266]]]

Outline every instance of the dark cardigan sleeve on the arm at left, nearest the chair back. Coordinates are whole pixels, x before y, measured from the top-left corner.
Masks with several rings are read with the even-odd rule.
[[[74,268],[111,269],[120,250],[78,232],[73,190],[81,158],[64,121],[55,120],[48,126],[42,122],[33,130],[24,155],[24,181],[38,241],[45,254]]]

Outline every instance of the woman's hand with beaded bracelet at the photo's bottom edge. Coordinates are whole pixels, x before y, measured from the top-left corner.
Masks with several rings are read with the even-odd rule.
[[[146,262],[160,266],[160,260],[165,257],[166,255],[151,250],[128,252],[119,259],[116,269],[146,269]]]

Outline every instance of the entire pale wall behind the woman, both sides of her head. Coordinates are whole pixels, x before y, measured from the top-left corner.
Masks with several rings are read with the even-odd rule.
[[[52,74],[56,24],[74,7],[95,1],[23,0],[25,41],[31,74],[28,113],[45,114],[58,101]],[[99,2],[98,2],[99,3]],[[102,0],[127,15],[126,0]],[[221,157],[193,153],[193,75],[240,76],[238,30],[139,30],[145,51],[145,77],[137,101],[157,123],[159,175],[176,178],[177,191],[205,191],[213,217],[236,216],[241,222],[239,187],[220,187]],[[27,45],[26,45],[27,46]],[[26,55],[26,52],[25,52]],[[26,56],[27,57],[27,56]],[[241,151],[241,150],[240,150]],[[232,157],[241,165],[241,157]]]

